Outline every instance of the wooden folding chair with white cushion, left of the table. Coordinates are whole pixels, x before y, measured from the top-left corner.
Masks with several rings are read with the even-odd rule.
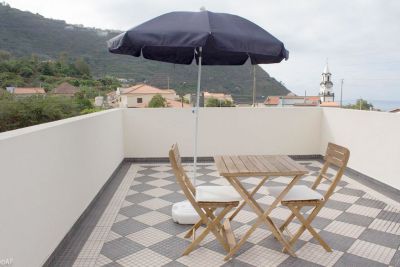
[[[193,241],[183,255],[188,255],[193,251],[210,232],[229,252],[235,245],[234,238],[231,230],[225,229],[221,224],[221,220],[232,208],[238,206],[241,200],[240,195],[231,186],[197,186],[195,188],[183,169],[177,144],[173,145],[169,151],[169,160],[183,193],[200,216],[200,220],[185,235],[186,238],[193,236]],[[214,214],[217,208],[222,208],[218,215]],[[196,238],[195,232],[203,224],[206,228]]]

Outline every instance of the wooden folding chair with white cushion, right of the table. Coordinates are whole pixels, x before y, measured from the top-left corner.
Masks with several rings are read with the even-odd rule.
[[[347,148],[329,143],[324,157],[324,164],[312,187],[309,188],[304,185],[294,186],[281,201],[283,206],[287,206],[292,211],[291,215],[279,227],[281,231],[286,230],[291,236],[289,241],[291,246],[299,239],[305,230],[308,230],[326,251],[332,252],[329,245],[311,226],[311,222],[323,208],[330,196],[334,193],[334,190],[346,169],[349,157],[350,151]],[[330,167],[335,167],[334,169],[337,170],[336,175],[332,179],[327,175],[327,171]],[[322,179],[326,179],[331,183],[324,195],[316,191],[318,186],[321,184]],[[269,189],[269,192],[272,195],[275,195],[282,190],[283,188],[281,187],[272,187]],[[307,218],[305,218],[300,212],[300,210],[306,206],[313,207]],[[300,221],[301,226],[294,235],[291,235],[287,227],[294,218],[297,218]]]

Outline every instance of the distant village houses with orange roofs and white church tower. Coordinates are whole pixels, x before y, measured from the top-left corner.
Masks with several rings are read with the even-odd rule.
[[[294,93],[281,96],[267,96],[263,103],[257,103],[257,107],[331,107],[339,108],[341,103],[335,98],[333,92],[332,74],[326,64],[322,72],[321,82],[319,85],[318,95],[298,96]],[[43,88],[21,88],[7,87],[7,91],[16,97],[26,96],[45,96],[46,92]],[[73,97],[79,88],[69,84],[62,83],[50,93],[56,96]],[[94,105],[97,107],[107,108],[147,108],[149,102],[155,95],[161,95],[166,100],[168,108],[190,108],[195,102],[195,95],[186,94],[180,97],[173,89],[157,88],[150,84],[140,83],[133,86],[120,87],[116,91],[109,92],[104,98],[98,96],[94,99]],[[232,106],[245,107],[252,106],[251,104],[235,104],[235,101],[230,94],[214,93],[204,91],[200,97],[200,106],[206,107],[206,103],[214,99],[217,103],[228,101]],[[218,106],[218,105],[216,105]],[[400,109],[394,109],[390,112],[400,112]]]

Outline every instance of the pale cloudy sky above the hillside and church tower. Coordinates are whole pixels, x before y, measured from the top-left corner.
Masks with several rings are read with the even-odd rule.
[[[343,99],[400,102],[398,0],[6,0],[12,7],[102,29],[128,30],[170,11],[245,17],[281,40],[288,61],[261,65],[298,95],[316,95],[326,62]]]

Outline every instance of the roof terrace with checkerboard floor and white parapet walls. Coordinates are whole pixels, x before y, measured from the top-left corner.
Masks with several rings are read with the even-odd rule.
[[[309,169],[310,185],[328,142],[351,151],[348,169],[308,234],[298,258],[281,252],[266,227],[228,262],[212,236],[189,256],[188,226],[171,219],[185,197],[166,161],[171,144],[192,155],[191,109],[114,109],[0,134],[0,262],[12,266],[399,266],[400,116],[329,108],[207,108],[200,111],[199,183],[224,185],[215,154],[286,154]],[[190,163],[186,163],[188,171]],[[246,178],[245,187],[257,178]],[[269,185],[255,198],[273,198]],[[323,189],[322,189],[323,190]],[[289,210],[278,207],[273,220]],[[241,236],[256,215],[245,207]],[[299,224],[294,224],[293,228]]]

